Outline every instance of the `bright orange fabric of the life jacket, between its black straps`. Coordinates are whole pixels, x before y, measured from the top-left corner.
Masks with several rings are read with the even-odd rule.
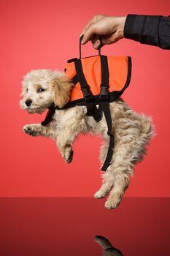
[[[121,91],[125,86],[128,76],[128,57],[127,56],[111,56],[107,57],[109,66],[109,92]],[[101,85],[101,59],[100,56],[91,56],[81,59],[82,70],[93,95],[100,93]],[[73,78],[76,75],[74,61],[66,66],[66,75]],[[70,101],[82,99],[82,91],[80,83],[77,83],[72,89]]]

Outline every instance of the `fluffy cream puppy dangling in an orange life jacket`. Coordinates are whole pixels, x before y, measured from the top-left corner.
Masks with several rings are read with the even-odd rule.
[[[64,72],[50,69],[36,69],[28,72],[23,78],[20,107],[28,113],[42,113],[55,103],[62,108],[69,102],[74,84]],[[121,98],[109,103],[112,116],[112,133],[115,137],[115,148],[111,164],[105,173],[101,173],[103,182],[94,197],[104,198],[105,207],[117,208],[128,188],[130,176],[134,175],[134,166],[141,162],[147,152],[147,145],[154,136],[152,118],[138,114]],[[80,133],[101,135],[104,143],[101,146],[100,160],[104,162],[109,146],[107,122],[102,116],[96,122],[87,116],[86,106],[55,110],[53,121],[47,126],[26,124],[23,132],[32,136],[45,136],[56,141],[58,150],[66,163],[72,162],[74,140]]]

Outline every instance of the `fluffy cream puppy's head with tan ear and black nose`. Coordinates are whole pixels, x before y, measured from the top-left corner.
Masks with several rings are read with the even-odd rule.
[[[23,78],[20,107],[28,113],[42,113],[54,102],[62,108],[69,102],[73,84],[63,72],[50,69],[31,70]]]

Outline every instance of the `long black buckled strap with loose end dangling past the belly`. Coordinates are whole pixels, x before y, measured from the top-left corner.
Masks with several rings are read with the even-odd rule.
[[[105,119],[107,121],[107,134],[109,135],[109,148],[107,151],[107,157],[104,161],[104,165],[101,170],[106,171],[110,165],[110,161],[113,155],[113,149],[115,146],[115,139],[112,135],[112,117],[109,108],[109,67],[107,56],[101,56],[101,92],[99,94],[99,108],[98,110],[104,112]]]

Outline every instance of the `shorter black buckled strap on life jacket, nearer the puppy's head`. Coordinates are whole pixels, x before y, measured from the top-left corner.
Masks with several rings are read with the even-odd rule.
[[[81,90],[83,97],[85,99],[85,103],[87,106],[87,116],[93,116],[96,121],[101,120],[101,114],[99,113],[98,109],[96,108],[94,97],[92,92],[90,91],[90,86],[88,85],[85,75],[82,70],[82,61],[81,59],[77,59],[74,61],[76,72],[77,72],[77,79],[80,82]]]

